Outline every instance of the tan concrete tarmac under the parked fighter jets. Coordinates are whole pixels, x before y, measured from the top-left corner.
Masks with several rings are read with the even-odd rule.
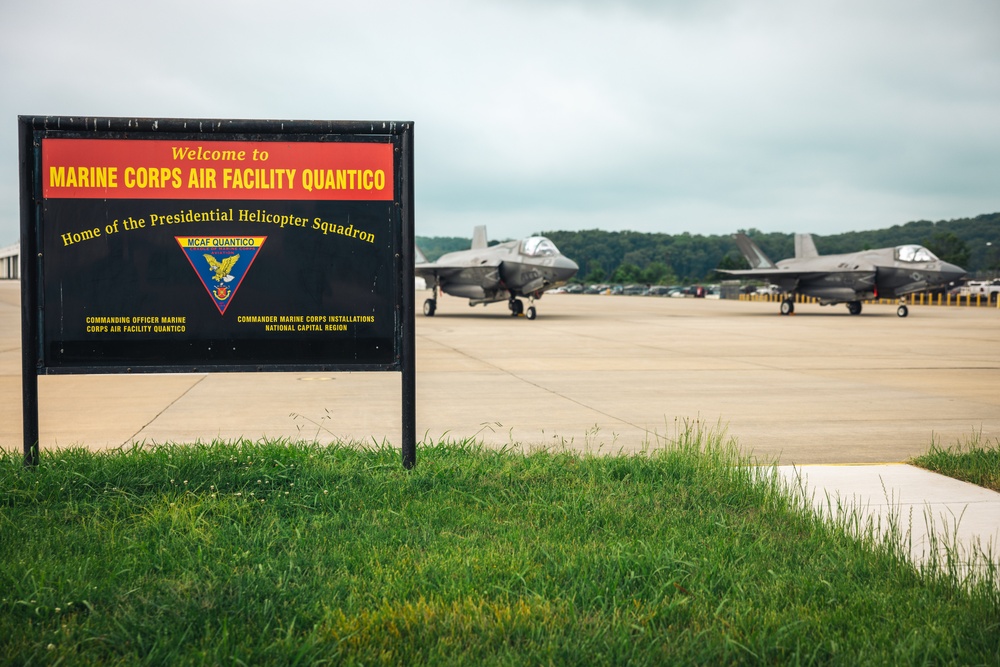
[[[16,450],[19,289],[0,281],[0,446]],[[429,294],[417,292],[418,307]],[[932,442],[1000,437],[997,308],[911,306],[903,319],[868,304],[859,316],[798,305],[789,317],[777,303],[711,299],[535,305],[529,321],[443,296],[434,317],[417,316],[418,440],[616,453],[691,425],[816,478],[817,464],[899,463]],[[43,376],[39,405],[43,453],[264,437],[398,446],[401,431],[397,373]],[[850,467],[830,478],[840,486],[811,488],[850,497],[872,471],[884,479]]]

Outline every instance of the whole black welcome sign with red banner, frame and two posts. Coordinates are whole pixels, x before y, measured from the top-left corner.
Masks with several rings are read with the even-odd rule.
[[[316,371],[400,372],[415,465],[412,122],[19,116],[18,135],[26,465],[38,375]],[[60,146],[177,164],[55,167]],[[251,168],[282,150],[289,168]],[[170,193],[199,172],[210,188]]]

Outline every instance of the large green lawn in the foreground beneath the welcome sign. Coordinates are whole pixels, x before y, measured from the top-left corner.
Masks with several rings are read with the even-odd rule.
[[[10,664],[997,664],[918,570],[722,437],[636,456],[286,442],[0,459]]]

